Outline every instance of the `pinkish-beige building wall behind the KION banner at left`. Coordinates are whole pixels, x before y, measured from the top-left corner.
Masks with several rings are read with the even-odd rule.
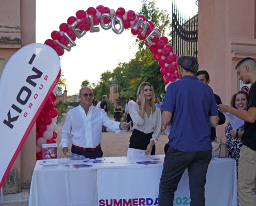
[[[36,42],[36,1],[2,0],[0,7],[0,77],[19,48]],[[32,128],[4,183],[4,194],[29,188],[36,162],[36,126]]]

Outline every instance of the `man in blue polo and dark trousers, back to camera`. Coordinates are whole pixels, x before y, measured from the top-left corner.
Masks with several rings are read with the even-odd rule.
[[[210,127],[218,125],[218,110],[213,90],[194,76],[197,59],[181,56],[177,64],[182,79],[168,86],[162,108],[162,124],[171,125],[171,132],[159,186],[159,206],[173,205],[174,192],[186,168],[190,205],[204,206],[206,173],[212,159]]]

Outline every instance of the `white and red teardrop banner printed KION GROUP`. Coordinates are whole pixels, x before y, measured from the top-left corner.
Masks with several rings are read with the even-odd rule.
[[[59,57],[45,44],[22,47],[6,64],[0,79],[0,188],[60,74]]]

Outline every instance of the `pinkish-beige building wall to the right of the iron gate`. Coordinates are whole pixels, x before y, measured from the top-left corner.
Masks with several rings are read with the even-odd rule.
[[[199,70],[210,75],[209,86],[229,104],[239,89],[235,65],[245,57],[256,60],[255,0],[199,0]],[[224,125],[216,128],[225,141]]]

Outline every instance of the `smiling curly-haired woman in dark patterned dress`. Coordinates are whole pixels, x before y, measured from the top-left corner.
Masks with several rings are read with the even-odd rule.
[[[230,106],[238,110],[246,110],[247,107],[248,93],[244,91],[239,91],[234,94],[230,101]],[[236,160],[236,167],[238,167],[238,161],[240,158],[240,149],[242,148],[241,136],[244,133],[244,125],[240,126],[238,129],[233,130],[231,123],[229,122],[225,127],[225,136],[228,139],[227,149],[228,157]]]

